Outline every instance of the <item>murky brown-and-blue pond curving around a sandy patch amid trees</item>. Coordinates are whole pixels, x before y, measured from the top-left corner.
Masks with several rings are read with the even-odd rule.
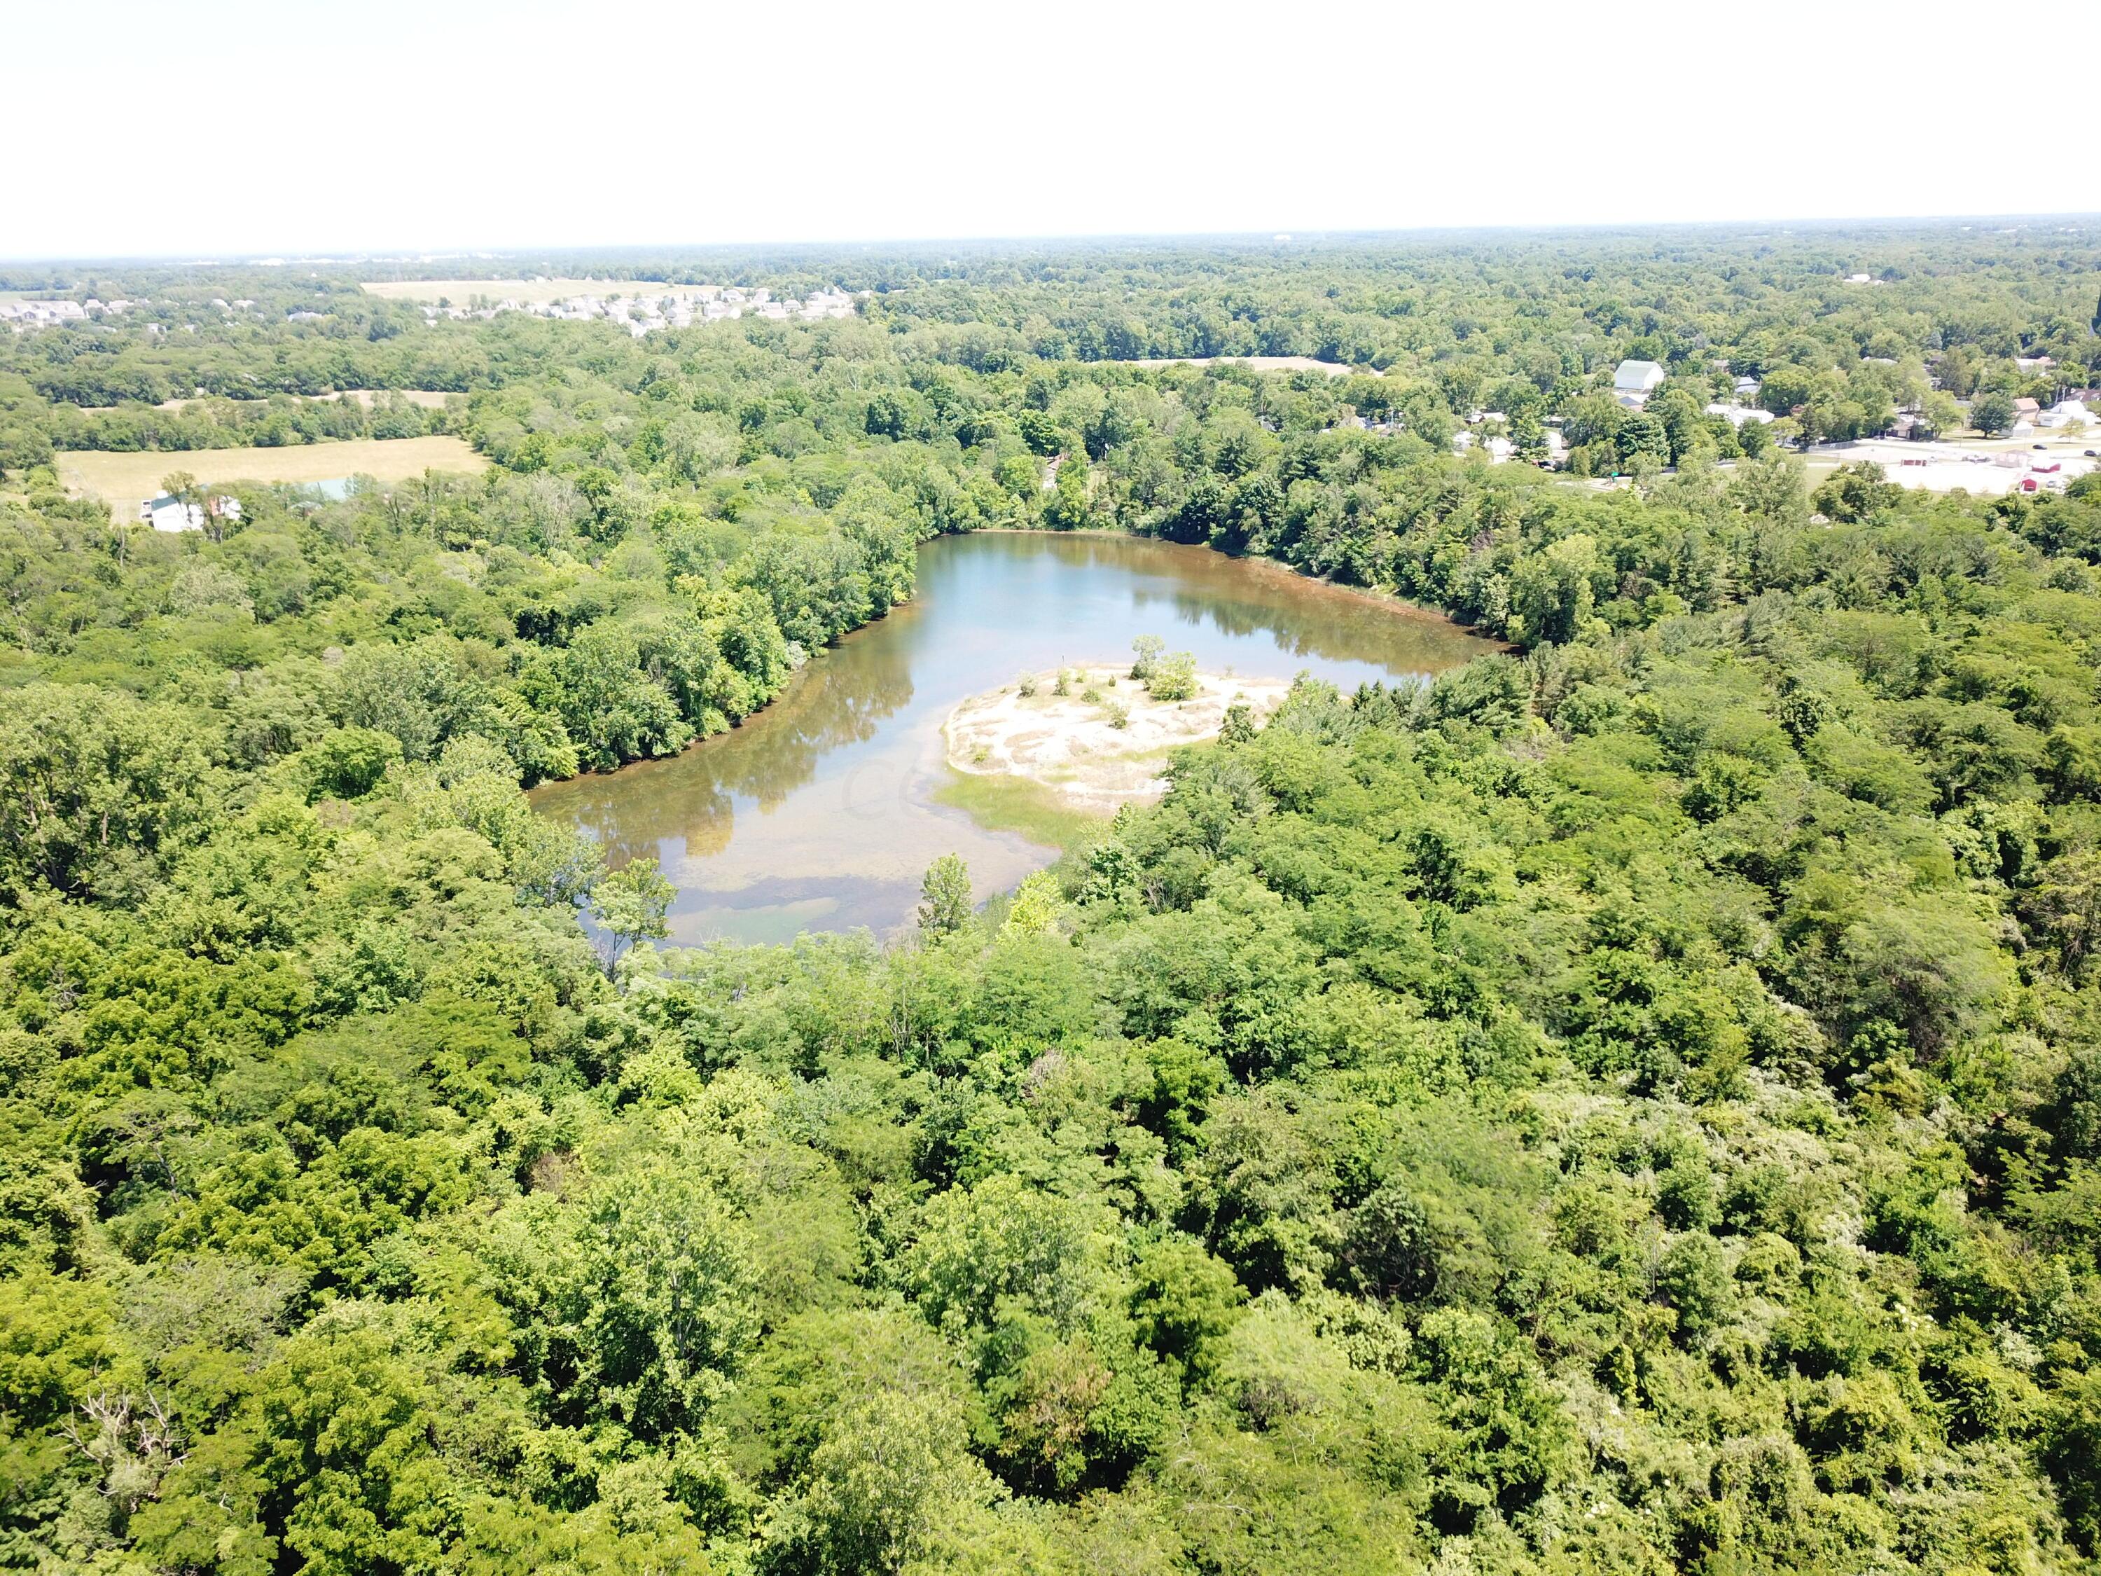
[[[918,593],[813,658],[769,708],[666,761],[532,790],[607,862],[653,853],[679,887],[672,941],[784,941],[912,918],[927,866],[960,853],[985,897],[1055,857],[939,803],[941,723],[1050,666],[1128,668],[1160,635],[1212,672],[1345,691],[1494,649],[1418,609],[1271,563],[1124,536],[979,532],[920,548]]]

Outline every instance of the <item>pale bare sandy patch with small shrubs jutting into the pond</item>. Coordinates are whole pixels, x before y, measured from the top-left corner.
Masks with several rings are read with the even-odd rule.
[[[1160,799],[1168,756],[1216,738],[1235,700],[1263,719],[1290,693],[1286,679],[1200,672],[1195,696],[1168,702],[1145,693],[1128,664],[1065,672],[1065,696],[1055,693],[1059,675],[1050,668],[1032,675],[1034,696],[1017,681],[956,706],[943,725],[948,763],[969,775],[1027,777],[1076,809],[1109,811]],[[1086,700],[1088,689],[1099,698]]]

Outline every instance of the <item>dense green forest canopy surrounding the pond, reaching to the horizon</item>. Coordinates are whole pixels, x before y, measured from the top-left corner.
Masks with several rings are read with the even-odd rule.
[[[645,338],[349,267],[0,279],[147,303],[0,336],[0,1563],[2090,1570],[2101,488],[1811,492],[1700,416],[2093,385],[2097,265],[513,261],[874,292]],[[1355,370],[1118,366],[1248,353]],[[1454,458],[1477,408],[1635,485]],[[492,469],[181,536],[59,479],[382,420]],[[981,527],[1511,651],[1301,683],[908,937],[660,948],[653,870],[525,805]]]

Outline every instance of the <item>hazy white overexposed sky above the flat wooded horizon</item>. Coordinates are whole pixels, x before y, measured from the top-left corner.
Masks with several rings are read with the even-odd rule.
[[[0,256],[2082,212],[2009,76],[2082,13],[44,4]]]

